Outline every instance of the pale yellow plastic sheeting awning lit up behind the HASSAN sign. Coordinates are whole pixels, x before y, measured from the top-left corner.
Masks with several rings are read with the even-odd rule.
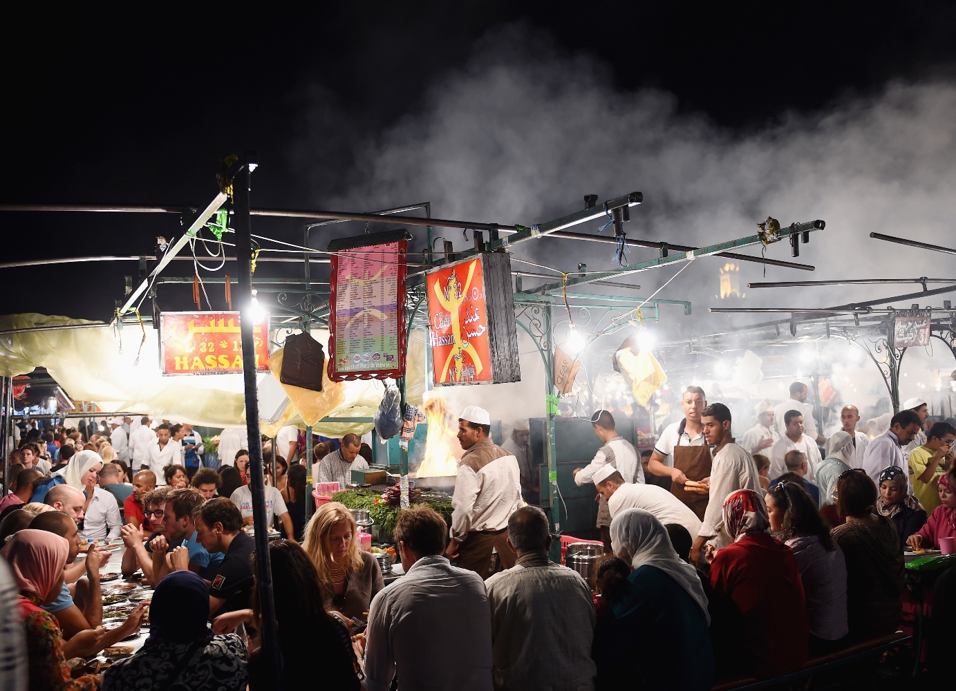
[[[0,315],[0,331],[93,323],[45,314]],[[328,339],[327,332],[313,335],[320,342]],[[96,401],[102,410],[142,413],[209,427],[246,424],[242,375],[163,377],[159,339],[150,326],[126,324],[122,330],[94,326],[0,335],[0,376],[29,374],[36,367],[46,367],[73,399]],[[257,379],[260,410],[272,419],[272,411],[282,406],[288,394],[271,372],[260,373]],[[380,382],[348,381],[342,388],[343,397],[328,413],[330,417],[371,418],[375,414],[383,392]],[[282,424],[305,426],[294,407],[278,417]],[[371,428],[371,422],[335,422],[316,425],[315,432],[338,437],[347,432],[364,434]]]

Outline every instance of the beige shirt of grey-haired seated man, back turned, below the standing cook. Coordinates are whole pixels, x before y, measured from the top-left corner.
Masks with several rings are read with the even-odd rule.
[[[545,556],[522,554],[485,582],[491,607],[491,676],[496,689],[586,691],[595,614],[591,590],[577,572]]]

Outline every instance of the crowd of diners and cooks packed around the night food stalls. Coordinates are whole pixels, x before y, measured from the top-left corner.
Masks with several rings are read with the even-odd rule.
[[[523,501],[539,491],[522,465],[526,425],[498,446],[488,412],[463,411],[451,520],[426,503],[399,513],[403,575],[388,586],[346,507],[324,504],[306,522],[298,450],[311,441],[264,443],[266,520],[283,535],[269,548],[279,671],[264,648],[245,530],[245,448],[204,467],[201,451],[187,458],[202,448],[191,427],[154,431],[148,418],[132,430],[110,421],[108,441],[55,430],[41,446],[28,436],[0,501],[0,594],[18,613],[22,673],[32,689],[264,689],[274,674],[314,683],[320,661],[329,687],[371,691],[709,689],[785,675],[896,631],[903,546],[939,548],[956,534],[956,429],[925,424],[917,406],[864,442],[845,409],[843,429],[823,439],[794,402],[774,438],[779,406],[762,401],[764,431],[737,443],[728,407],[688,387],[684,420],[643,457],[597,411],[602,445],[575,472],[599,495],[606,556],[591,582],[554,563],[548,516]],[[316,482],[344,486],[367,466],[356,435],[326,444],[315,448]],[[155,588],[150,635],[105,674],[72,679],[67,659],[128,636],[144,615],[141,605],[120,627],[101,626],[108,551],[98,543],[117,537],[123,575],[141,572]]]

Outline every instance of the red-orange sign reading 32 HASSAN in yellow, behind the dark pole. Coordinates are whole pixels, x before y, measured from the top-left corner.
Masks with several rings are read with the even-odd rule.
[[[165,312],[160,315],[163,375],[242,372],[238,312]],[[269,317],[255,325],[255,368],[269,369]]]

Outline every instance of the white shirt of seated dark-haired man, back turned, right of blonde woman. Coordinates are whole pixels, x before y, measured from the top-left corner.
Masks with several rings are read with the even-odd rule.
[[[514,458],[513,456],[511,458]],[[372,600],[367,691],[491,691],[491,613],[475,572],[425,556]]]

